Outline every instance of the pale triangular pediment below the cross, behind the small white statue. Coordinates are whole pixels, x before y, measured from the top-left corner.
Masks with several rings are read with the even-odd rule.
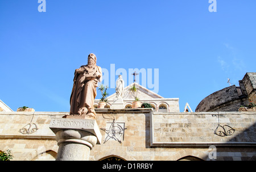
[[[129,88],[132,87],[132,85],[135,84],[135,86],[138,88],[138,97],[140,100],[148,100],[148,99],[154,99],[154,98],[163,98],[162,96],[159,96],[158,94],[150,91],[149,89],[143,87],[142,85],[139,85],[138,83],[131,83],[130,85],[128,85],[127,87],[125,87],[123,89],[123,94],[122,94],[122,98],[123,100],[133,100],[133,97],[129,96]],[[115,98],[115,93],[110,95],[108,97],[108,100],[114,100]]]

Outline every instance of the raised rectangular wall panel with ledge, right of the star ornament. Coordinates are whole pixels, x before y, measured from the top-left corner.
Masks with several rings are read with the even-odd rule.
[[[164,146],[243,145],[256,143],[256,113],[180,113],[152,115],[152,144]],[[216,135],[220,126],[229,126],[232,135]],[[222,128],[220,128],[221,131]]]

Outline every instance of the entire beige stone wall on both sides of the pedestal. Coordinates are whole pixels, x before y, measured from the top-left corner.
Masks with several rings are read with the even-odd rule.
[[[217,160],[252,160],[256,155],[255,112],[153,113],[151,109],[96,109],[96,113],[102,144],[90,151],[89,160],[111,156],[123,160],[176,161],[188,156],[209,160],[210,145],[217,148]],[[55,160],[58,146],[49,122],[67,114],[0,112],[0,150],[10,149],[13,160]],[[234,134],[215,135],[218,121],[234,128]],[[32,127],[36,124],[38,130],[20,133],[29,123]],[[123,135],[118,134],[121,129]],[[110,132],[113,130],[115,136]]]

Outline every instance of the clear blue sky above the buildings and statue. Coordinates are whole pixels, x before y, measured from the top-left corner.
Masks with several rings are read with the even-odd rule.
[[[14,111],[69,111],[74,71],[89,53],[109,71],[158,68],[158,94],[179,98],[180,111],[255,72],[255,0],[217,0],[217,12],[208,0],[39,5],[0,1],[0,99]]]

